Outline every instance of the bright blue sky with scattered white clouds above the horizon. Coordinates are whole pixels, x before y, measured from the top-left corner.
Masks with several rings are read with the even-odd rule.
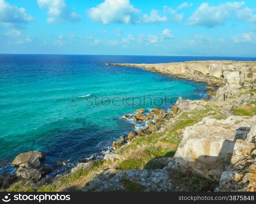
[[[256,57],[256,0],[0,0],[0,53]]]

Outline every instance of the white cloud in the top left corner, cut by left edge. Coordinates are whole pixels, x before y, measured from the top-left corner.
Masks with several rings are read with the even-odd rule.
[[[18,8],[5,0],[0,0],[0,22],[4,26],[23,29],[27,22],[33,20],[35,19],[27,14],[24,8]]]

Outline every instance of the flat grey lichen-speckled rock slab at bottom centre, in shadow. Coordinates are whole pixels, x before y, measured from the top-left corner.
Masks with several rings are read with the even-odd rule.
[[[161,192],[174,191],[167,171],[161,169],[129,170],[118,173],[96,187],[97,192]]]

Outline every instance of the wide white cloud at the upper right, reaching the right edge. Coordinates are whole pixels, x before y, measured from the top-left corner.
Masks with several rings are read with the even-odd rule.
[[[256,22],[254,10],[241,8],[245,2],[226,2],[218,6],[209,6],[209,3],[202,3],[200,7],[189,18],[188,25],[200,25],[215,27],[225,24],[225,21],[236,17],[238,20]]]

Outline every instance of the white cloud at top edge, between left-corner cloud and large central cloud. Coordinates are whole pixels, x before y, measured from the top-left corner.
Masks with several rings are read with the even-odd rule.
[[[76,22],[79,15],[67,7],[65,0],[37,0],[40,9],[47,10],[49,18],[47,23],[64,23],[65,21]]]

